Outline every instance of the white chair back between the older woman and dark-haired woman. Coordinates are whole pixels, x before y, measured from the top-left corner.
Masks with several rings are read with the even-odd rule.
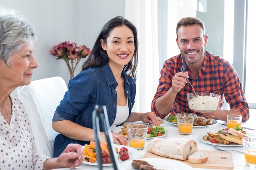
[[[67,85],[61,77],[32,81],[17,88],[31,120],[32,131],[39,153],[53,157],[54,139],[58,133],[52,128],[52,117],[60,104]]]

